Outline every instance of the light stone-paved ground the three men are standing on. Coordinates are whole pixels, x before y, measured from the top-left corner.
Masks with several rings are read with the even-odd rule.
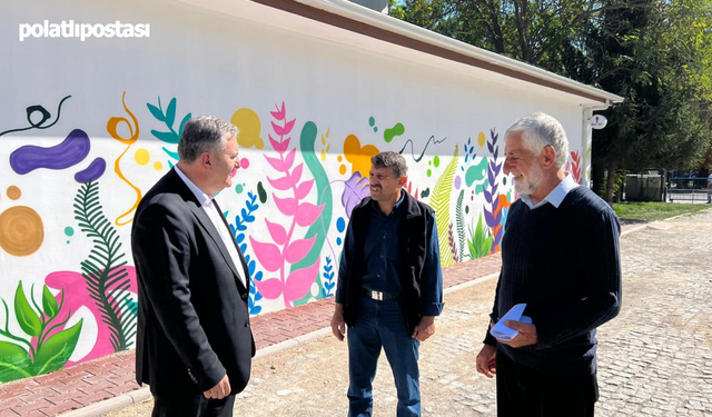
[[[622,239],[623,309],[599,330],[597,416],[712,416],[712,211],[649,225]],[[496,415],[494,380],[475,371],[496,279],[446,291],[422,345],[424,416]],[[324,337],[255,360],[235,416],[345,416],[347,349]],[[385,358],[375,416],[393,416]],[[151,400],[109,417],[149,416]]]

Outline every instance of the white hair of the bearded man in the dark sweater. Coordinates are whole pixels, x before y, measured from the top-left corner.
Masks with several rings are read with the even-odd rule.
[[[526,115],[507,128],[504,138],[515,132],[522,132],[522,141],[534,155],[538,155],[546,146],[556,151],[554,166],[561,168],[568,160],[568,139],[558,120],[536,112]]]

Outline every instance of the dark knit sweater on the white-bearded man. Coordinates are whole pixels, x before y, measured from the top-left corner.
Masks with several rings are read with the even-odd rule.
[[[530,209],[515,201],[502,240],[502,272],[492,320],[526,302],[537,344],[520,348],[485,344],[532,368],[565,376],[596,369],[596,327],[621,309],[619,219],[585,187],[571,190],[558,208]]]

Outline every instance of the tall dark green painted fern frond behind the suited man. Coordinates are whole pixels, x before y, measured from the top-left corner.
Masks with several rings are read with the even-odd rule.
[[[99,203],[99,183],[82,185],[73,207],[81,231],[95,244],[89,257],[81,262],[81,275],[101,312],[101,321],[109,327],[111,346],[115,351],[126,350],[136,336],[136,314],[130,299],[122,297],[131,282],[123,268],[127,261],[120,251],[119,235]]]

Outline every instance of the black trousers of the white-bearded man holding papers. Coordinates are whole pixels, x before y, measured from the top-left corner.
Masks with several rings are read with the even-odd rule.
[[[517,364],[497,350],[498,417],[593,417],[596,375],[565,377]]]

